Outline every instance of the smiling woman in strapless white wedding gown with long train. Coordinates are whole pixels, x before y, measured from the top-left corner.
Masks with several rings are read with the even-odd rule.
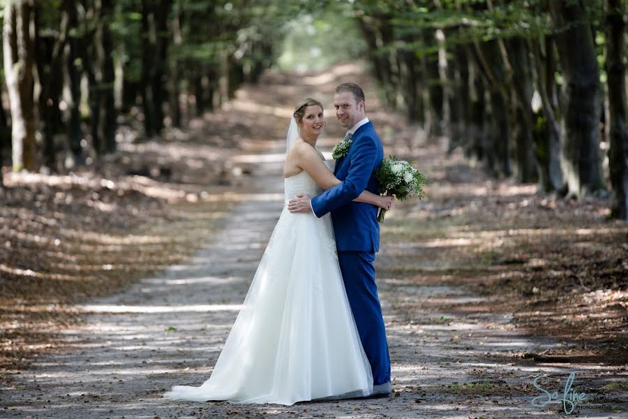
[[[323,127],[320,102],[306,98],[294,109],[283,211],[242,309],[209,379],[200,387],[174,385],[165,397],[291,405],[371,394],[371,366],[345,293],[330,216],[287,210],[297,194],[315,196],[340,183],[315,148]],[[388,209],[393,198],[364,191],[356,200]]]

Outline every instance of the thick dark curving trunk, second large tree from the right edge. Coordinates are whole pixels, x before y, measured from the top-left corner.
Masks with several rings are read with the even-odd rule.
[[[559,29],[556,46],[565,77],[562,172],[568,196],[581,198],[604,189],[599,155],[601,103],[597,54],[582,2],[557,0],[548,4]]]

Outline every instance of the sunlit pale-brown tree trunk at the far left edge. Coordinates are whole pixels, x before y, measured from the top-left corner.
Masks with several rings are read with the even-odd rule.
[[[4,8],[4,74],[11,107],[13,170],[35,169],[33,116],[33,38],[29,0],[14,0]]]

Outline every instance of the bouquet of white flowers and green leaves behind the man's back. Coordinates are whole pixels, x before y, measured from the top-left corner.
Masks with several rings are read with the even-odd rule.
[[[417,197],[424,198],[423,186],[428,179],[419,173],[419,170],[410,166],[405,160],[398,160],[389,156],[382,161],[382,165],[375,171],[377,182],[380,182],[382,195],[394,195],[398,200]],[[380,209],[377,221],[384,222],[386,210]]]

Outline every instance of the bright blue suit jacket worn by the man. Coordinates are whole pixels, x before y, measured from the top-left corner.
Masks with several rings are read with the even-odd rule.
[[[377,252],[380,250],[377,207],[352,200],[365,189],[379,192],[375,170],[384,159],[384,149],[371,122],[360,126],[351,139],[349,152],[336,161],[334,170],[342,183],[312,198],[312,210],[317,217],[331,212],[338,251]]]

